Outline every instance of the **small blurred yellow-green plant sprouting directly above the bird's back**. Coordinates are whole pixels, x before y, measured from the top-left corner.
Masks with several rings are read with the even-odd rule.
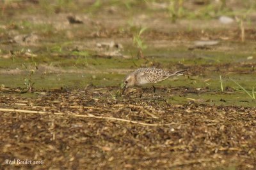
[[[141,27],[140,31],[137,31],[136,34],[133,35],[133,44],[138,48],[138,56],[143,57],[143,50],[147,48],[143,39],[141,38],[141,34],[147,30],[147,27]]]

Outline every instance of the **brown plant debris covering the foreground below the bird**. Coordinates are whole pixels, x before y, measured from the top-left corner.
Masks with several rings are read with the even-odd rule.
[[[172,105],[131,94],[115,100],[104,90],[1,96],[1,162],[44,160],[15,165],[42,169],[256,167],[255,108]]]

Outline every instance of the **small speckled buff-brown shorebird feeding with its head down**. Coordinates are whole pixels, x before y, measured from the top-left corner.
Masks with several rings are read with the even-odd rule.
[[[159,81],[166,80],[172,76],[182,75],[186,70],[169,72],[163,69],[157,69],[154,67],[144,67],[136,69],[134,72],[127,74],[124,78],[124,87],[140,87],[148,83],[157,83]],[[153,97],[156,92],[156,87],[153,87]],[[144,92],[144,90],[143,90]],[[143,94],[142,92],[142,94]],[[141,96],[142,96],[141,94]],[[141,97],[140,96],[140,97]]]

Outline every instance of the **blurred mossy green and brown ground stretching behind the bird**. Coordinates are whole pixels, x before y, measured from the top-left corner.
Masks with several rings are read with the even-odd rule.
[[[245,64],[240,72],[252,70],[255,62],[253,0],[30,0],[0,7],[6,86],[22,87],[31,70],[39,89],[80,88],[118,85],[138,67],[189,68],[191,76],[211,78],[233,73],[238,63]]]

